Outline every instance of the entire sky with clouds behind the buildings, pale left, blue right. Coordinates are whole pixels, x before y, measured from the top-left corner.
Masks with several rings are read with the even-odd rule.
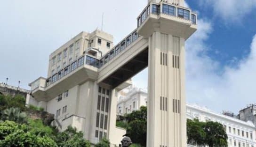
[[[186,42],[186,98],[235,113],[255,102],[256,0],[186,0],[198,30]],[[135,5],[136,3],[136,5]],[[147,0],[6,0],[0,3],[0,82],[27,88],[46,77],[48,56],[80,31],[101,28],[114,43],[136,28]],[[124,7],[125,6],[125,7]],[[147,69],[133,78],[147,87]]]

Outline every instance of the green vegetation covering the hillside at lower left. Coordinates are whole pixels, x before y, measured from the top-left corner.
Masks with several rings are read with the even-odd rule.
[[[22,96],[0,95],[0,147],[90,147],[83,132],[68,126],[64,132],[47,125],[42,119],[29,118],[28,113],[42,111],[34,106],[25,107]],[[45,112],[46,113],[46,112]],[[110,147],[102,139],[96,147]]]

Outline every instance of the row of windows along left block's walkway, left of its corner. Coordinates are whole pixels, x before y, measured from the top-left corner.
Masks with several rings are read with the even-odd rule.
[[[56,82],[57,80],[61,79],[65,75],[69,74],[73,70],[75,70],[77,67],[80,67],[84,64],[84,56],[79,58],[78,60],[72,62],[71,65],[66,66],[64,69],[58,71],[58,73],[52,75],[52,77],[48,78],[46,80],[46,87],[49,86],[50,84]]]

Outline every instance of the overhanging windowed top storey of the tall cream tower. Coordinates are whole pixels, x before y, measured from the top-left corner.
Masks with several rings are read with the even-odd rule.
[[[137,18],[137,32],[150,37],[154,31],[189,38],[197,29],[197,15],[189,8],[151,2]]]

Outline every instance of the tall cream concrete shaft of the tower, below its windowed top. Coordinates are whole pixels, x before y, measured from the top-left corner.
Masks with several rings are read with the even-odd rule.
[[[147,147],[186,147],[184,38],[149,37]]]

